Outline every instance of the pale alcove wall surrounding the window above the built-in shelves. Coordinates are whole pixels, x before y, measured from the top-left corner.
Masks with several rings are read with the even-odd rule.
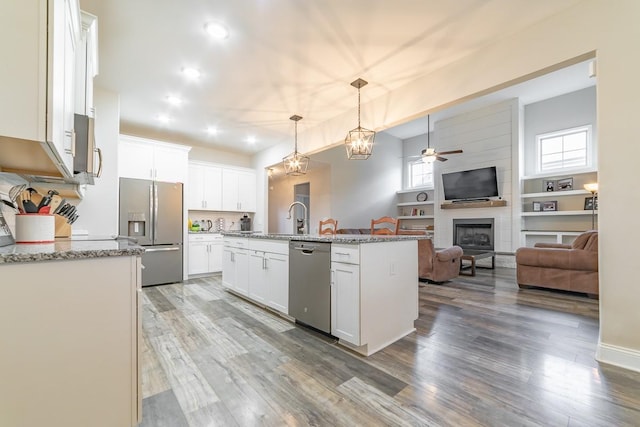
[[[595,147],[598,146],[598,124],[595,86],[525,105],[523,175],[536,173],[536,135],[584,125],[592,126],[593,149],[589,155],[592,157],[593,166],[597,166]]]

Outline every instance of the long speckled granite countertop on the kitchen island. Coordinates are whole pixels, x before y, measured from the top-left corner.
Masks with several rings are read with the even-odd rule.
[[[268,240],[304,240],[307,242],[328,242],[328,243],[380,243],[398,242],[403,240],[429,239],[427,235],[371,235],[371,234],[263,234],[263,233],[241,233],[226,231],[223,236],[248,237],[250,239]]]

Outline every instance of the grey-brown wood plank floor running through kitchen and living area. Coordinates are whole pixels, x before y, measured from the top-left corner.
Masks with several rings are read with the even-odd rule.
[[[640,425],[640,373],[594,359],[597,300],[504,268],[419,294],[417,331],[362,357],[219,275],[144,288],[141,425]]]

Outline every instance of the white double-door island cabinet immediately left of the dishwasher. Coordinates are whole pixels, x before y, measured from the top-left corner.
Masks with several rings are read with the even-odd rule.
[[[249,240],[249,298],[289,312],[289,242]]]

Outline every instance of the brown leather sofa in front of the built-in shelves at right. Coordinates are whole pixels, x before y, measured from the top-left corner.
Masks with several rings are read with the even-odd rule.
[[[571,245],[536,243],[516,251],[520,288],[537,286],[591,296],[598,291],[598,232],[586,231]]]

